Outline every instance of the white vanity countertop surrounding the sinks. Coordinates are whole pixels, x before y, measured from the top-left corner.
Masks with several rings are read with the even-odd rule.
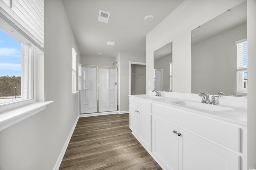
[[[205,109],[184,106],[184,105],[176,103],[176,102],[181,102],[181,101],[191,101],[191,102],[196,102],[196,104],[200,106],[200,104],[202,104],[200,99],[198,101],[193,101],[193,100],[186,100],[186,99],[172,98],[172,97],[155,98],[153,95],[147,95],[147,94],[130,95],[130,96],[134,97],[134,98],[144,99],[149,102],[156,103],[156,104],[170,106],[170,107],[173,107],[176,109],[182,109],[184,111],[189,111],[191,113],[206,115],[206,116],[214,117],[217,119],[222,119],[225,121],[230,121],[232,123],[238,123],[241,125],[247,125],[247,109],[244,107],[212,105],[210,107],[221,106],[221,107],[228,107],[230,109],[220,110],[220,111],[209,111],[209,110],[205,110]],[[206,105],[206,104],[202,104],[202,105]]]

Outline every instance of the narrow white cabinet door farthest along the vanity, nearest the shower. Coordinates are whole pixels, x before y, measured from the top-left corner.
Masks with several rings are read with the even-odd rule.
[[[130,129],[132,133],[138,135],[138,108],[130,105]]]

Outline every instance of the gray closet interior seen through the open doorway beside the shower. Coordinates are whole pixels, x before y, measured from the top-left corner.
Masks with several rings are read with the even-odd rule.
[[[146,94],[146,65],[131,64],[131,94]],[[144,74],[144,75],[136,75]]]

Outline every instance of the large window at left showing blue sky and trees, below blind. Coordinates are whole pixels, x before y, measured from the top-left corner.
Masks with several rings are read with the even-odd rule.
[[[0,30],[0,105],[33,99],[34,52]]]

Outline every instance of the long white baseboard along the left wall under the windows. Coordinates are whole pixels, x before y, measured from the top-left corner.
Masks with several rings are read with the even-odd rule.
[[[63,148],[62,148],[62,150],[60,152],[60,155],[59,155],[59,157],[58,157],[58,159],[57,159],[57,161],[56,161],[56,163],[54,165],[53,170],[58,170],[60,168],[60,164],[61,164],[62,159],[64,157],[64,154],[65,154],[65,152],[66,152],[66,150],[68,148],[69,141],[70,141],[70,139],[72,137],[72,134],[73,134],[73,132],[74,132],[74,130],[76,128],[76,124],[77,124],[78,119],[79,119],[79,115],[76,117],[76,121],[74,122],[74,125],[73,125],[73,127],[72,127],[72,129],[71,129],[71,131],[70,131],[70,133],[68,135],[68,138],[67,138],[67,140],[66,140],[66,142],[65,142],[65,144],[64,144],[64,146],[63,146]]]

